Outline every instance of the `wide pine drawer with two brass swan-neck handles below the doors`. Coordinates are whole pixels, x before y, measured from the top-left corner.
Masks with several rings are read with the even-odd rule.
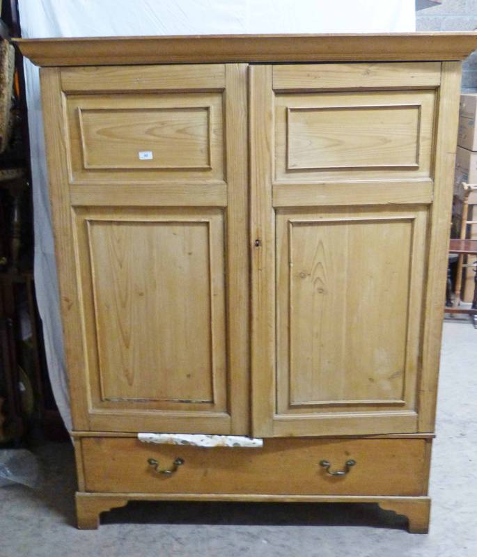
[[[81,440],[86,491],[201,494],[421,495],[427,491],[425,439],[267,439],[263,448],[144,444],[133,438]],[[170,475],[176,458],[184,463]],[[345,476],[347,460],[356,464]]]

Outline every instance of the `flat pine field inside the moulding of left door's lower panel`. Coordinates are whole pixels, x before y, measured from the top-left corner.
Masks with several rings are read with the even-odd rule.
[[[209,223],[87,223],[102,400],[213,402]]]

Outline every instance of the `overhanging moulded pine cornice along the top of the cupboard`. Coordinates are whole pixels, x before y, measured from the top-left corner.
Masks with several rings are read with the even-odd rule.
[[[462,60],[477,32],[14,39],[40,66]]]

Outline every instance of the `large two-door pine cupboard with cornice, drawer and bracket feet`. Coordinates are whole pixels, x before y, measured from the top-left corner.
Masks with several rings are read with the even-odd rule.
[[[477,33],[17,42],[42,66],[78,526],[134,499],[316,501],[427,531]]]

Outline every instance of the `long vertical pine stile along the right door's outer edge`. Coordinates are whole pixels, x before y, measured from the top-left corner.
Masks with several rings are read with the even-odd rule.
[[[428,281],[425,293],[422,376],[419,396],[419,431],[434,430],[437,377],[444,315],[448,238],[455,150],[459,120],[462,63],[442,63],[435,146],[434,202],[430,220]]]

